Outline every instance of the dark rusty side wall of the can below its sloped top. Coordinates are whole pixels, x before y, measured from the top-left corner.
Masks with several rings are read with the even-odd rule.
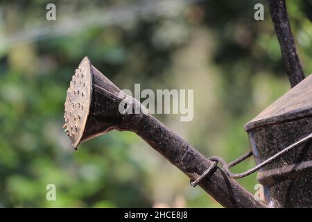
[[[309,116],[248,131],[257,164],[311,133],[311,128]],[[258,180],[270,207],[312,207],[311,160],[309,140],[260,170]]]

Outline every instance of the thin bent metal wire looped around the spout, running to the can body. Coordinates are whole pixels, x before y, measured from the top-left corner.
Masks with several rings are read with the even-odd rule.
[[[254,173],[255,171],[258,171],[262,167],[266,166],[267,164],[269,164],[270,162],[275,160],[277,157],[284,155],[288,151],[291,151],[291,149],[294,148],[295,146],[302,144],[303,142],[306,142],[306,140],[309,140],[311,138],[312,138],[312,133],[307,135],[306,137],[303,137],[302,139],[298,140],[297,142],[291,144],[290,146],[287,146],[286,148],[282,149],[281,151],[279,151],[275,155],[272,155],[272,157],[269,157],[267,160],[264,160],[263,162],[261,162],[261,164],[258,164],[256,167],[253,167],[252,169],[249,169],[248,171],[245,171],[243,173],[232,173],[231,171],[229,171],[229,169],[231,167],[234,167],[236,164],[239,164],[243,160],[247,159],[248,157],[250,157],[252,155],[252,151],[249,151],[245,155],[239,157],[238,159],[234,160],[233,162],[230,162],[229,164],[227,164],[225,162],[225,160],[223,160],[222,157],[218,157],[218,156],[209,157],[208,159],[211,161],[214,161],[216,164],[211,164],[211,166],[204,173],[202,173],[202,175],[199,178],[197,178],[196,180],[191,182],[191,185],[193,187],[196,187],[196,185],[198,185],[198,183],[200,183],[200,181],[202,179],[204,179],[206,176],[208,176],[208,174],[211,172],[211,170],[214,169],[214,167],[216,167],[218,162],[220,162],[220,164],[223,167],[223,171],[230,178],[243,178],[245,176],[248,176],[248,175]]]

